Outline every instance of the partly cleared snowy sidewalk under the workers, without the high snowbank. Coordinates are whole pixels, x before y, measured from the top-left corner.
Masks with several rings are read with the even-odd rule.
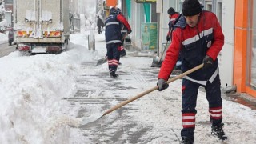
[[[96,35],[96,50],[104,51],[102,35]],[[102,49],[103,48],[103,49]],[[129,51],[127,52],[129,54]],[[104,56],[106,53],[102,53]],[[72,102],[79,102],[78,117],[98,117],[111,107],[155,86],[158,68],[151,68],[152,58],[121,58],[119,78],[111,79],[107,64],[94,66],[83,62],[85,68],[78,77],[78,93]],[[88,70],[89,69],[89,70]],[[168,90],[157,90],[138,100],[81,126],[86,143],[179,143],[182,129],[181,82],[170,84]],[[256,111],[226,100],[223,95],[223,121],[228,143],[254,143]],[[203,90],[198,94],[195,143],[222,143],[210,134],[208,104]]]

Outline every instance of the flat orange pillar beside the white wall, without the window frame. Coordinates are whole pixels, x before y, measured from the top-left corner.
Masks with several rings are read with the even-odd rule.
[[[236,1],[234,37],[234,85],[238,92],[246,92],[248,1]]]

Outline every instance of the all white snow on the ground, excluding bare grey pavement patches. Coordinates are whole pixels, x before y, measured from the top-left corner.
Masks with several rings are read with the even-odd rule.
[[[91,67],[81,67],[82,62],[95,62],[106,54],[104,34],[95,35],[96,51],[88,50],[86,34],[73,34],[69,50],[62,54],[20,56],[15,51],[0,58],[0,143],[90,143],[90,139],[82,135],[90,131],[82,132],[75,128],[81,121],[81,118],[75,118],[79,104],[70,106],[70,102],[62,100],[74,97],[78,88],[76,78],[82,72],[93,74],[107,71],[106,65],[92,70]],[[122,58],[121,62],[126,65],[120,66],[119,70],[135,70],[134,73],[140,73],[140,70],[150,66],[152,59],[127,57]],[[133,90],[126,90],[124,97],[134,96],[155,86],[156,80],[146,84],[134,80],[126,85],[126,78],[118,78],[120,85],[134,87]],[[100,81],[100,78],[88,77],[88,82],[94,81]],[[89,97],[97,97],[101,87],[85,86],[95,89]],[[168,90],[157,91],[134,101],[140,108],[131,118],[138,119],[141,126],[154,126],[147,135],[159,136],[148,143],[164,142],[170,138],[172,130],[179,137],[179,130],[182,129],[180,90],[181,80],[177,80],[171,83]],[[110,97],[112,93],[106,90],[105,95]],[[175,99],[175,102],[166,101],[166,98]],[[113,106],[118,104],[115,101],[110,103]],[[210,134],[209,114],[205,93],[202,91],[198,93],[197,106],[195,143],[220,143],[207,135]],[[94,110],[92,113],[95,114],[101,112],[98,107],[88,109]],[[114,116],[108,115],[106,122]],[[256,142],[255,110],[223,100],[223,117],[229,143]],[[162,130],[169,132],[162,133]]]

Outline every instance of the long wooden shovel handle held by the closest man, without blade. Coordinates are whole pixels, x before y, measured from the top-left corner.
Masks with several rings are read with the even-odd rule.
[[[176,77],[171,78],[169,81],[167,81],[167,83],[169,84],[170,82],[174,82],[174,81],[176,81],[178,78],[182,78],[182,77],[186,76],[187,74],[190,74],[190,73],[194,72],[195,70],[199,70],[199,69],[202,68],[202,66],[203,66],[203,64],[201,64],[201,65],[199,65],[199,66],[196,66],[196,67],[194,67],[193,69],[187,70],[185,73],[179,74],[179,75],[177,75]],[[146,90],[146,91],[143,91],[141,94],[136,95],[135,97],[129,98],[128,100],[119,103],[118,105],[116,105],[116,106],[110,108],[109,110],[107,110],[102,116],[104,116],[104,115],[106,115],[106,114],[110,114],[112,111],[117,110],[118,108],[120,108],[120,107],[122,107],[122,106],[125,106],[126,104],[128,104],[128,103],[130,103],[130,102],[133,102],[134,100],[136,100],[136,99],[138,99],[138,98],[141,98],[142,96],[144,96],[144,95],[146,95],[146,94],[149,94],[149,93],[151,93],[151,92],[154,91],[154,90],[158,90],[158,86],[154,86],[154,87],[152,87],[151,89]]]

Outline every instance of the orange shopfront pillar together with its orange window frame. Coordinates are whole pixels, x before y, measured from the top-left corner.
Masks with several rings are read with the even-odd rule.
[[[256,2],[236,0],[234,10],[233,84],[256,97]]]

